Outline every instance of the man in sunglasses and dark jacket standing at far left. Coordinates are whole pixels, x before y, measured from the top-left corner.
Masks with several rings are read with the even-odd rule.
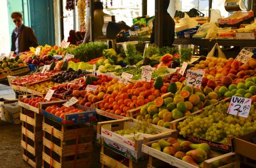
[[[29,50],[29,47],[37,47],[38,42],[33,29],[23,24],[22,13],[13,12],[11,14],[12,21],[16,25],[12,32],[12,47],[14,53]]]

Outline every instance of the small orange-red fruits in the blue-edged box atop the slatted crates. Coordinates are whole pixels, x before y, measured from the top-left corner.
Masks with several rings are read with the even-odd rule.
[[[48,106],[46,107],[45,109],[48,113],[51,113],[61,119],[65,119],[65,115],[66,114],[71,114],[71,113],[81,113],[83,112],[84,110],[81,110],[81,109],[78,109],[78,108],[75,108],[74,106],[70,106],[70,107],[66,107],[66,106],[61,106],[61,107],[58,107],[56,105],[51,105],[51,106]]]

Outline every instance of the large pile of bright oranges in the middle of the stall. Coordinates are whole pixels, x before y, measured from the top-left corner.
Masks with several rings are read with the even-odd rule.
[[[167,90],[167,85],[164,88]],[[127,117],[128,110],[154,101],[163,93],[161,90],[154,88],[153,80],[151,82],[137,81],[134,85],[129,83],[121,87],[118,93],[105,94],[103,101],[98,104],[98,108]]]

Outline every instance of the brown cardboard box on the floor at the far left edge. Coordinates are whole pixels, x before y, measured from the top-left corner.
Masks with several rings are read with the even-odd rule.
[[[1,101],[1,120],[11,124],[19,124],[20,106],[18,100],[4,100]]]

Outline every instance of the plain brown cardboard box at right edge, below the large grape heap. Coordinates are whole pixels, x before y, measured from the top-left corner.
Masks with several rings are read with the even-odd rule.
[[[251,138],[256,136],[256,131],[238,136],[233,139],[234,152],[256,160],[256,144],[251,143]]]

